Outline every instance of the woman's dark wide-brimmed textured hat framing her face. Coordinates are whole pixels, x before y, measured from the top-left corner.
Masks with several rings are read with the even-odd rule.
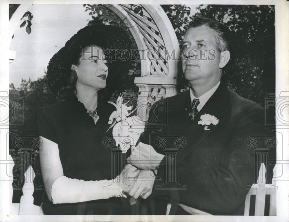
[[[60,101],[76,95],[77,74],[71,70],[71,65],[78,65],[84,46],[96,45],[102,49],[129,49],[131,43],[123,44],[120,39],[128,39],[126,31],[110,25],[88,25],[80,29],[69,39],[49,61],[47,66],[47,81],[51,92]],[[122,43],[122,44],[120,44]],[[116,53],[117,54],[117,53]],[[119,56],[118,54],[116,55]],[[112,56],[109,56],[107,66],[112,68]]]

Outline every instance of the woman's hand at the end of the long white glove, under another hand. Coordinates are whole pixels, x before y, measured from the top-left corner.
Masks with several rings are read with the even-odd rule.
[[[113,179],[112,182],[118,185],[120,189],[131,189],[139,171],[135,166],[127,164],[119,176]]]

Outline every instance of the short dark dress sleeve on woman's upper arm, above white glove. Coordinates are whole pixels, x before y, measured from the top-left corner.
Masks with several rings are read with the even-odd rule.
[[[53,126],[55,119],[52,114],[45,112],[45,109],[40,108],[36,113],[36,125],[39,136],[47,138],[54,143],[57,143],[57,138]]]

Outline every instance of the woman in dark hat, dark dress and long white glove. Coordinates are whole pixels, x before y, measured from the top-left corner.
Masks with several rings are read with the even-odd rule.
[[[103,49],[115,39],[116,29],[86,26],[47,67],[49,87],[62,102],[40,108],[36,118],[45,214],[125,214],[120,197],[132,181],[124,171],[137,175],[138,170],[131,165],[123,170],[121,163],[112,172],[114,146],[103,139],[112,135],[112,129],[106,131],[115,108],[98,98],[108,76]]]

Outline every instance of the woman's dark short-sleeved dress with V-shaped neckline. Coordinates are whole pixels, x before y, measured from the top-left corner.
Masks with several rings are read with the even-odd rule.
[[[122,171],[124,154],[115,146],[112,129],[105,133],[110,126],[108,118],[114,110],[113,105],[99,102],[99,120],[95,124],[76,96],[38,109],[38,134],[58,144],[64,176],[85,181],[110,180]],[[113,166],[112,162],[120,163]],[[126,214],[121,198],[52,204],[45,192],[42,208],[47,215]]]

